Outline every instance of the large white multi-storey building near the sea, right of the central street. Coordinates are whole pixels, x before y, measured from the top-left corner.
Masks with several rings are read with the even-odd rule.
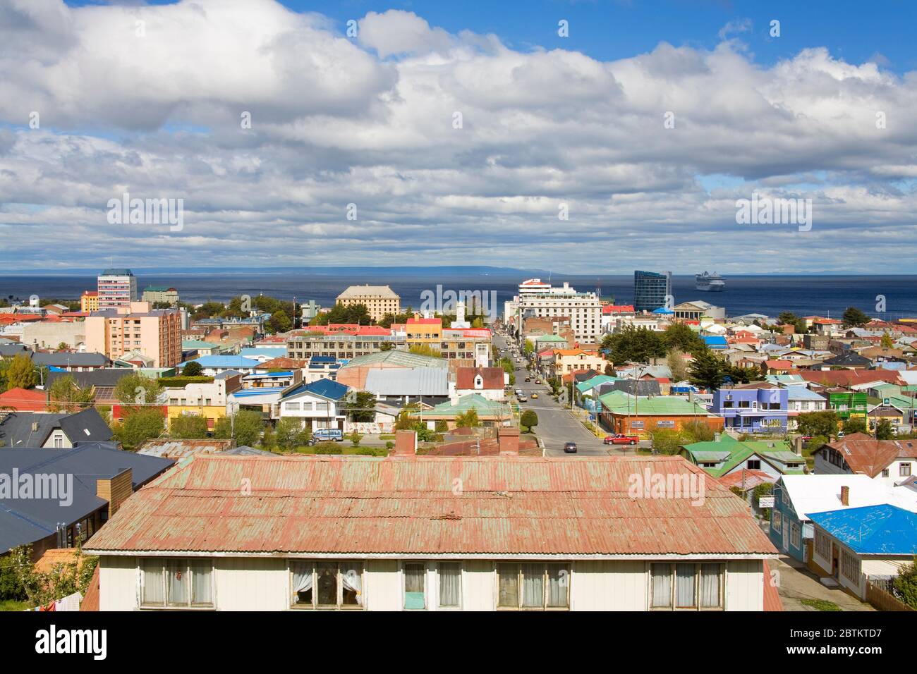
[[[529,279],[519,284],[519,294],[513,303],[506,303],[504,319],[522,330],[523,319],[567,316],[573,336],[582,344],[595,344],[602,335],[602,302],[596,293],[577,293],[565,282],[552,287],[541,279]]]

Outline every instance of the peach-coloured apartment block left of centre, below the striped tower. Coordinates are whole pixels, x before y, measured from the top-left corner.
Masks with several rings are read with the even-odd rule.
[[[149,308],[149,302],[94,312],[86,317],[86,350],[119,359],[139,351],[153,359],[154,368],[171,368],[182,361],[182,316],[175,309]]]

